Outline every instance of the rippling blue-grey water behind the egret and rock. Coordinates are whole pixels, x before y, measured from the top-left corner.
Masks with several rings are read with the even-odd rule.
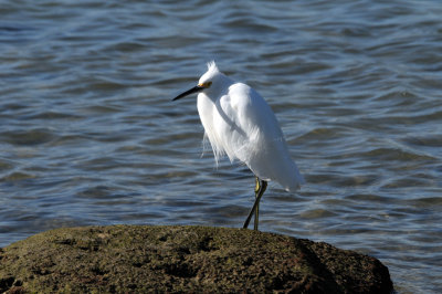
[[[442,4],[12,1],[0,6],[0,246],[60,227],[239,228],[253,175],[202,155],[214,59],[276,113],[307,185],[263,231],[380,259],[442,291]]]

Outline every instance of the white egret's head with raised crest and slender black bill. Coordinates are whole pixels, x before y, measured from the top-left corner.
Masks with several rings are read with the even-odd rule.
[[[179,94],[172,101],[180,99],[193,93],[212,92],[224,85],[227,76],[223,75],[217,67],[214,61],[208,63],[208,71],[200,77],[198,85]]]

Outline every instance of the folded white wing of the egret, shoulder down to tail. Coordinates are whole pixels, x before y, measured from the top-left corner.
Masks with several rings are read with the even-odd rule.
[[[257,92],[245,84],[234,84],[217,107],[224,123],[221,137],[231,160],[239,158],[261,179],[275,180],[288,190],[303,182],[280,124]]]

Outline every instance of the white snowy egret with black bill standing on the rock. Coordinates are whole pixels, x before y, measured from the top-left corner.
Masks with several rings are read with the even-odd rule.
[[[222,74],[213,61],[208,63],[198,85],[173,101],[193,93],[199,93],[198,113],[215,162],[227,154],[230,161],[239,159],[255,175],[255,201],[243,228],[249,227],[254,214],[257,230],[260,200],[267,181],[278,182],[286,191],[295,191],[304,183],[276,117],[256,91]]]

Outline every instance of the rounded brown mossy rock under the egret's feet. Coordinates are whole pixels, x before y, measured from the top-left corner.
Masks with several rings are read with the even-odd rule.
[[[244,229],[56,229],[0,250],[0,293],[391,293],[377,259]]]

